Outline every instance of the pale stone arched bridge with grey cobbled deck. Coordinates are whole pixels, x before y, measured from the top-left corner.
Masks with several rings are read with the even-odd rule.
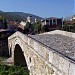
[[[40,35],[16,32],[8,38],[12,65],[30,75],[75,75],[75,34],[60,30]]]

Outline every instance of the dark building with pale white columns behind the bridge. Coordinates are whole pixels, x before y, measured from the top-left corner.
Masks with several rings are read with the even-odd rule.
[[[45,18],[41,21],[42,26],[49,25],[50,29],[56,29],[57,27],[62,27],[63,18],[50,17]]]

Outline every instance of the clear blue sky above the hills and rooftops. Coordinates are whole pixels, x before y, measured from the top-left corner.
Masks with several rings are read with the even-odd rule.
[[[25,12],[40,17],[67,17],[75,14],[75,0],[0,0],[0,10]]]

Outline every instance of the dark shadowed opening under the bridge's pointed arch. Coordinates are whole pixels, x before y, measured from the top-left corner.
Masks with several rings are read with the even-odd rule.
[[[25,56],[21,47],[18,44],[16,44],[14,50],[14,65],[27,67]]]

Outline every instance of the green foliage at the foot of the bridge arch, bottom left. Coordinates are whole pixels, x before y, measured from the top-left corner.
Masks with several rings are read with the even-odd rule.
[[[26,67],[0,65],[0,75],[29,75]]]

